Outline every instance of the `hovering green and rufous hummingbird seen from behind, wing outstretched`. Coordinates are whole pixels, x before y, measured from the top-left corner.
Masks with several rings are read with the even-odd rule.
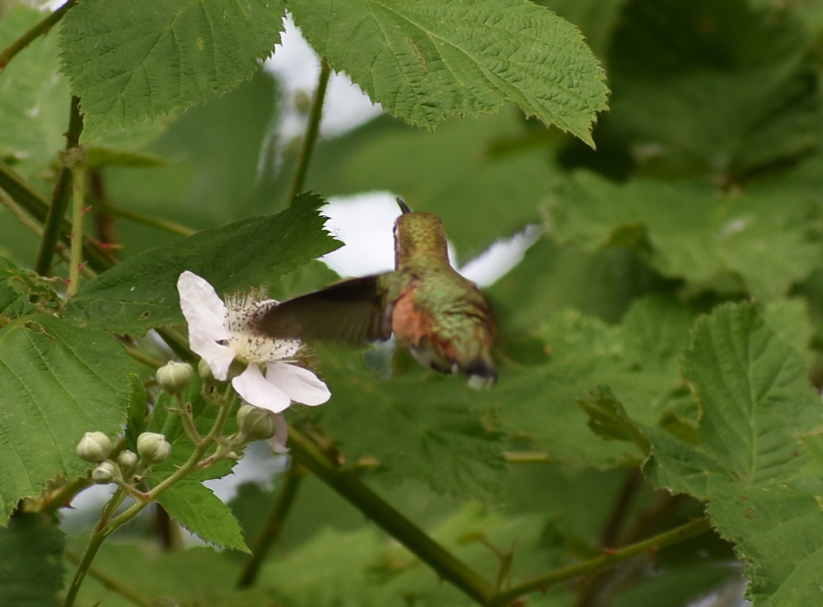
[[[491,343],[495,320],[472,281],[449,264],[443,222],[412,212],[398,197],[394,271],[343,280],[289,299],[261,317],[281,339],[386,341],[394,333],[424,367],[464,373],[469,386],[497,381]]]

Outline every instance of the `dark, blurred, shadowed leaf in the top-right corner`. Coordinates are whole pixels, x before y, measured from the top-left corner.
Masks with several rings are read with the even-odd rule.
[[[610,127],[639,154],[712,172],[797,160],[821,118],[813,45],[776,4],[633,0],[608,59]]]

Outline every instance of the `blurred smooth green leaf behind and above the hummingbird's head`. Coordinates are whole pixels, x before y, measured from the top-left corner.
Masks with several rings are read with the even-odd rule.
[[[546,143],[504,105],[495,116],[449,120],[435,133],[379,118],[320,141],[307,183],[327,197],[385,189],[415,211],[437,213],[463,263],[539,221],[537,202],[552,170]]]

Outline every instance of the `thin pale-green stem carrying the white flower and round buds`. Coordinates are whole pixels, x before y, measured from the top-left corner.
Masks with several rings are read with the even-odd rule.
[[[223,426],[226,424],[226,419],[229,417],[232,409],[230,406],[232,401],[232,393],[228,392],[224,398],[225,401],[221,404],[220,412],[217,414],[214,425],[212,425],[212,429],[209,430],[201,443],[194,445],[193,452],[190,456],[188,456],[188,460],[186,460],[183,466],[180,466],[177,470],[174,470],[173,474],[160,481],[160,483],[156,484],[151,491],[146,493],[145,496],[143,496],[146,498],[146,501],[137,501],[116,517],[108,520],[108,517],[114,512],[114,509],[119,506],[119,503],[122,503],[123,498],[125,498],[123,489],[118,489],[114,493],[114,496],[111,500],[109,500],[109,503],[106,504],[103,512],[100,514],[100,521],[97,526],[95,526],[95,530],[91,533],[91,539],[89,540],[89,545],[86,548],[86,554],[83,554],[83,558],[77,568],[77,572],[74,574],[74,579],[72,580],[72,585],[69,586],[66,600],[63,602],[63,607],[72,607],[72,605],[74,605],[74,601],[77,599],[77,592],[80,590],[83,578],[86,577],[86,572],[88,572],[89,567],[91,566],[91,561],[94,560],[95,554],[97,554],[97,551],[100,549],[100,545],[103,544],[103,540],[111,535],[119,526],[125,525],[128,521],[131,521],[134,517],[136,517],[137,514],[142,512],[143,508],[155,501],[166,489],[169,489],[174,483],[184,478],[197,468],[198,461],[201,460],[208,447],[210,447],[210,445],[215,442],[216,438],[220,436],[223,431]]]

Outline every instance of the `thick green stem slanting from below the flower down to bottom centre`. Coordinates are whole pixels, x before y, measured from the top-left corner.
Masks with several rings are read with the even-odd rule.
[[[427,563],[440,577],[453,583],[481,605],[486,605],[491,600],[494,586],[490,582],[437,544],[355,476],[332,463],[305,434],[297,429],[289,429],[289,447],[296,462],[340,493],[360,512]]]

